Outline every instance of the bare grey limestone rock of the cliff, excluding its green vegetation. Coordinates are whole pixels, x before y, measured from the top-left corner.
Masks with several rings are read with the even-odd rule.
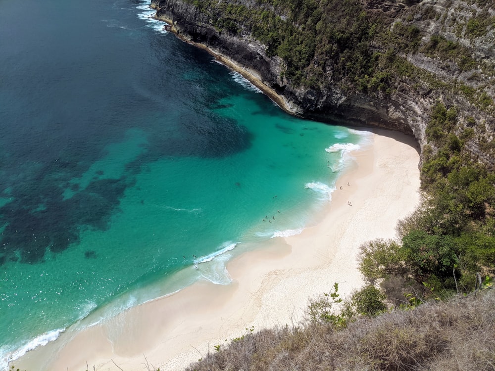
[[[259,2],[250,0],[220,0],[218,4],[238,4],[239,1],[246,7],[261,6]],[[420,45],[430,45],[432,36],[441,37],[446,45],[451,45],[448,42],[455,43],[457,50],[462,48],[466,51],[466,55],[461,56],[470,61],[469,65],[461,65],[460,57],[454,57],[452,53],[442,56],[425,51],[426,46],[422,49],[416,47],[414,52],[405,51],[402,56],[417,71],[424,71],[426,75],[412,73],[398,76],[394,80],[393,89],[387,92],[348,89],[340,77],[332,73],[331,64],[325,66],[323,81],[320,81],[319,86],[311,88],[307,84],[292,84],[284,76],[286,62],[274,53],[269,53],[268,47],[252,36],[250,26],[238,23],[236,32],[231,32],[214,25],[217,16],[214,6],[201,7],[192,0],[152,0],[151,6],[156,9],[158,18],[172,21],[177,34],[226,55],[281,95],[286,107],[303,117],[395,129],[414,135],[421,147],[424,147],[431,107],[440,99],[448,105],[455,105],[461,112],[457,133],[469,126],[468,121],[472,125],[472,120],[467,120],[470,117],[478,123],[474,130],[480,134],[480,140],[493,142],[493,106],[480,109],[477,95],[463,95],[452,87],[460,86],[461,91],[468,93],[473,90],[483,92],[483,97],[488,97],[487,101],[493,103],[495,6],[488,4],[480,7],[475,1],[468,0],[362,0],[361,3],[370,16],[380,13],[383,17],[385,14],[391,29],[399,21],[408,27],[413,26],[421,34]],[[286,14],[279,15],[282,19],[286,18]],[[488,23],[483,23],[485,28],[479,27],[480,22],[487,19]],[[373,48],[381,52],[388,47],[384,43],[373,44]],[[425,82],[425,76],[434,79],[435,83]],[[473,139],[469,143],[472,153],[478,160],[495,166],[490,151],[487,153],[485,149],[480,149],[480,140]]]

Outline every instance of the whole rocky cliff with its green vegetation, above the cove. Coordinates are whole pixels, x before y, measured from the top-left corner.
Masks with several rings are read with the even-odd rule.
[[[472,159],[495,167],[494,1],[152,0],[151,6],[179,36],[233,60],[293,113],[400,130],[425,148],[440,101],[455,109],[451,130],[466,140]]]

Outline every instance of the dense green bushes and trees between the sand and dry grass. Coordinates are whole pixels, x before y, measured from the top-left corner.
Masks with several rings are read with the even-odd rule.
[[[381,283],[391,303],[412,290],[421,301],[469,293],[495,275],[495,174],[466,150],[472,131],[455,135],[457,112],[441,102],[432,109],[421,167],[424,197],[399,222],[400,241],[361,246],[361,273]]]

